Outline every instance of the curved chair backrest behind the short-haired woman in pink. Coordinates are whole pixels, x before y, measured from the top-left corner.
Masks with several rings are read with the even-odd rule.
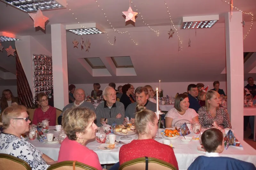
[[[75,167],[75,168],[74,168]],[[47,170],[97,170],[97,168],[94,168],[89,165],[85,165],[81,162],[77,161],[63,161],[56,163],[54,165],[51,165],[50,167],[47,168]]]

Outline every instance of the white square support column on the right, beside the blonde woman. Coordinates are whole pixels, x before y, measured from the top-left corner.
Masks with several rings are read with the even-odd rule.
[[[236,136],[244,138],[244,55],[242,12],[225,14],[228,114]]]

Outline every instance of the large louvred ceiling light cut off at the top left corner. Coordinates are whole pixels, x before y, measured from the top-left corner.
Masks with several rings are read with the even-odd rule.
[[[36,12],[66,8],[66,0],[0,0],[23,12]]]

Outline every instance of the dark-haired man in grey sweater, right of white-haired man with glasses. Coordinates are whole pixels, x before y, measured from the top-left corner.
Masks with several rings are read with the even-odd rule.
[[[148,110],[156,112],[156,103],[153,103],[148,100],[148,89],[146,87],[137,87],[135,90],[136,102],[129,104],[125,110],[125,118],[123,124],[127,124],[127,118],[131,119],[132,123],[134,122],[135,113],[136,113],[136,106],[138,104],[142,104]]]

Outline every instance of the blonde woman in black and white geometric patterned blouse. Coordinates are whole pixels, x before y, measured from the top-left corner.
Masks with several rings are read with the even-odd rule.
[[[222,129],[232,128],[229,115],[226,109],[219,107],[220,94],[210,90],[205,95],[205,106],[198,110],[198,119],[203,128],[211,128],[216,122]]]

